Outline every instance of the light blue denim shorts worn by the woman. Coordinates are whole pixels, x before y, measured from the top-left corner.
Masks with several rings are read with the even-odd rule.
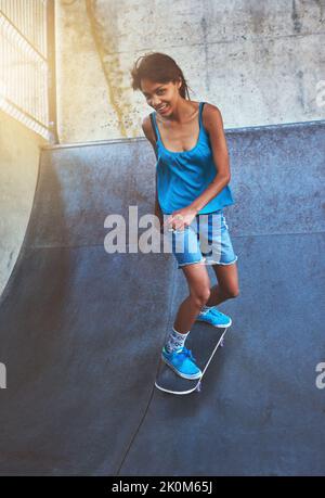
[[[171,237],[178,268],[194,263],[232,265],[237,260],[222,209],[196,215],[184,230],[172,230]]]

